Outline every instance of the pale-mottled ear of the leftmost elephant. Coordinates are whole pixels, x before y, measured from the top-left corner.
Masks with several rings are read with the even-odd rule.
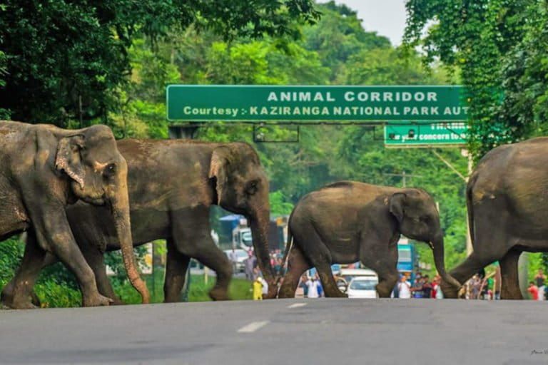
[[[55,168],[64,171],[72,180],[83,188],[86,170],[83,168],[80,151],[83,148],[84,136],[71,135],[63,137],[57,145]]]

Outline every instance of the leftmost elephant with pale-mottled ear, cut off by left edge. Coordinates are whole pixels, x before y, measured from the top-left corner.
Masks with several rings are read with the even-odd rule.
[[[28,308],[31,288],[46,252],[76,275],[84,306],[106,305],[68,224],[65,208],[76,200],[103,205],[123,262],[143,302],[146,285],[136,269],[127,189],[126,160],[110,128],[94,125],[64,130],[53,125],[0,121],[0,241],[29,230],[21,268],[12,280],[15,294],[4,297],[14,308]]]

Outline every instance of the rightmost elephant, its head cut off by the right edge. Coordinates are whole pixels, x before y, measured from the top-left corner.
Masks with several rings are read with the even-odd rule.
[[[480,160],[470,176],[466,201],[474,251],[451,270],[464,283],[498,260],[501,299],[523,299],[517,260],[523,251],[548,252],[548,138],[501,145]],[[445,297],[457,297],[442,282]]]

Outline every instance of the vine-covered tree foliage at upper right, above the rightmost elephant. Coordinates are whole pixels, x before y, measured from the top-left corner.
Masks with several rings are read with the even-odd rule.
[[[470,148],[543,133],[547,3],[535,0],[408,0],[406,40],[425,61],[460,71],[471,101]],[[425,32],[425,33],[423,33]]]

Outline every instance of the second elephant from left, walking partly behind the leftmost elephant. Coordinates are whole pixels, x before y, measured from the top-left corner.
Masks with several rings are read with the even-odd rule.
[[[178,302],[191,257],[217,274],[210,297],[228,299],[232,265],[210,236],[211,205],[248,218],[258,264],[265,279],[273,282],[267,241],[269,184],[250,145],[120,140],[118,150],[128,162],[133,244],[167,241],[165,302]],[[101,209],[83,203],[68,207],[67,214],[76,241],[96,274],[99,291],[116,298],[103,261],[106,250],[120,248],[113,225]],[[275,297],[275,286],[271,286]]]

